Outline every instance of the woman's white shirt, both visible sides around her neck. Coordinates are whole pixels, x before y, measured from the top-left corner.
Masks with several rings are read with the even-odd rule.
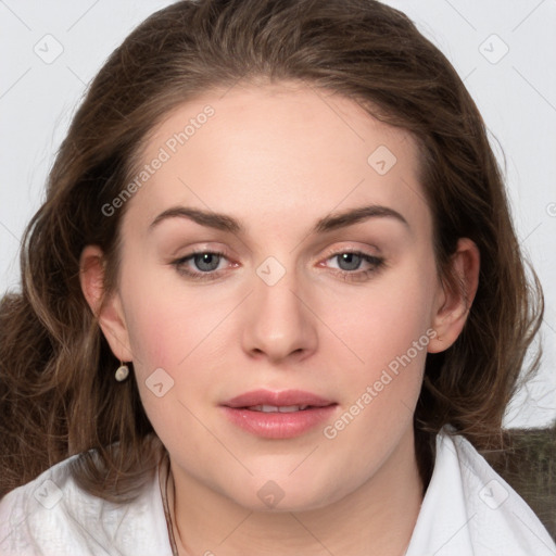
[[[447,429],[447,428],[446,428]],[[1,556],[172,556],[161,467],[130,504],[80,490],[61,462],[0,501]],[[406,556],[556,556],[525,501],[463,437],[437,435]]]

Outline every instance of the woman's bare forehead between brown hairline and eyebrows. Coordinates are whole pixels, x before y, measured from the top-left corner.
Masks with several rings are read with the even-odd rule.
[[[128,211],[147,224],[174,204],[253,224],[369,203],[420,226],[430,217],[410,134],[307,86],[237,85],[185,102],[150,134],[143,166],[149,176]]]

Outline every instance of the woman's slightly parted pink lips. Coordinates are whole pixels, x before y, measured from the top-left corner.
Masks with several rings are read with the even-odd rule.
[[[327,421],[337,407],[338,403],[302,390],[254,390],[222,405],[233,425],[268,439],[304,434]]]

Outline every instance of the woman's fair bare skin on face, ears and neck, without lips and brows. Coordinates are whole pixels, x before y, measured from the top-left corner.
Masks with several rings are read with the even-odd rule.
[[[185,103],[153,130],[144,163],[207,103],[215,115],[128,201],[119,287],[103,305],[102,252],[88,245],[81,255],[84,294],[116,357],[134,362],[170,456],[179,552],[401,555],[422,501],[412,419],[425,357],[462,331],[477,248],[462,239],[453,257],[466,303],[437,273],[413,138],[306,86],[237,85]],[[379,146],[397,159],[384,175],[367,162]],[[370,204],[407,225],[370,217],[311,232],[319,218]],[[174,205],[228,214],[244,230],[181,217],[150,230]],[[192,249],[225,251],[216,279],[172,265]],[[342,275],[334,255],[350,250],[383,266],[365,274],[374,267],[362,260]],[[285,269],[274,286],[256,274],[268,256]],[[202,273],[194,261],[182,266]],[[300,389],[338,403],[333,424],[427,330],[435,338],[333,439],[321,426],[261,439],[218,407],[256,388]],[[161,397],[146,384],[156,368],[174,380]],[[274,507],[257,496],[269,480],[283,493]]]

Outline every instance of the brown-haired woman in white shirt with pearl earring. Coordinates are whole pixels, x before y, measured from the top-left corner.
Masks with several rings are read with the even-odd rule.
[[[76,114],[22,268],[3,553],[556,549],[478,452],[540,289],[477,108],[400,12],[151,16]]]

